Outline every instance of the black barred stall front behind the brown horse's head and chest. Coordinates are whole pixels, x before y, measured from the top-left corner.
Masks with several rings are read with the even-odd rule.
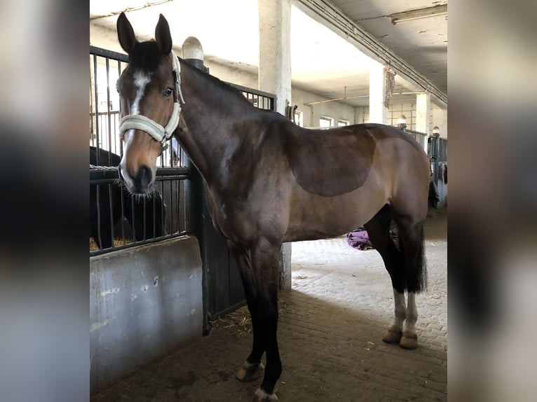
[[[127,64],[126,55],[90,46],[90,147],[120,156],[123,153],[123,142],[118,138],[119,97],[115,85]],[[239,85],[233,86],[254,106],[275,110],[274,95]],[[90,256],[148,242],[195,235],[200,244],[203,261],[205,328],[207,319],[216,319],[244,305],[245,296],[240,275],[233,256],[229,254],[225,238],[212,226],[205,202],[203,181],[177,141],[172,140],[168,149],[161,155],[156,172],[161,200],[152,201],[152,205],[154,207],[155,202],[162,202],[161,208],[164,214],[156,213],[155,208],[151,209],[151,202],[142,201],[144,204],[135,205],[135,201],[128,195],[119,197],[119,200],[112,200],[110,194],[113,193],[114,186],[121,188],[121,184],[117,181],[117,170],[106,168],[107,165],[114,166],[112,162],[108,156],[103,158],[97,152],[97,160],[90,164],[90,193],[95,193],[93,196],[97,200],[93,212],[98,217],[98,237],[102,240],[104,230],[109,230],[116,240],[111,247],[99,247],[100,244],[93,244],[91,249],[90,244]],[[121,204],[118,210],[121,211],[122,218],[115,225],[114,222],[110,222],[103,228],[103,216],[112,215],[114,202]],[[135,208],[140,215],[138,223],[140,219],[142,220],[141,236],[138,231],[134,233],[135,223],[131,223],[125,216],[127,215],[125,211],[132,212]],[[90,210],[90,215],[91,213]],[[130,219],[136,218],[137,216],[130,217]],[[152,228],[158,226],[159,219],[163,233],[149,230],[151,225]]]

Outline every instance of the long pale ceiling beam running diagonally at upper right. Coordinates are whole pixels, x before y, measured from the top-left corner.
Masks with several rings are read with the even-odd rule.
[[[311,18],[326,25],[342,38],[352,43],[358,50],[372,59],[385,65],[390,65],[397,74],[419,88],[430,92],[433,99],[447,106],[447,95],[431,83],[428,78],[420,74],[410,64],[402,60],[393,50],[384,45],[379,39],[369,34],[365,29],[348,18],[328,0],[299,0],[297,7]]]

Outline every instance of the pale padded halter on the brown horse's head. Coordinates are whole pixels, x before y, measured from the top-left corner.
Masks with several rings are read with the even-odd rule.
[[[173,102],[172,116],[166,127],[141,114],[128,114],[119,120],[119,138],[123,139],[127,130],[142,130],[160,142],[164,149],[165,142],[172,137],[173,132],[179,124],[179,113],[181,113],[180,102],[185,103],[181,92],[181,64],[173,50],[172,60],[172,69],[175,72],[175,102]]]

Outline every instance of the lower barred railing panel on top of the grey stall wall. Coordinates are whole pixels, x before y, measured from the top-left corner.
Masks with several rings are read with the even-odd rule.
[[[158,194],[133,197],[118,181],[117,170],[90,169],[90,220],[93,214],[93,237],[97,237],[90,240],[90,256],[188,234],[189,176],[188,167],[158,168]]]

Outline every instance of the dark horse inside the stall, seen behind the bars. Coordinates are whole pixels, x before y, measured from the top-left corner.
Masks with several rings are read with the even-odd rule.
[[[98,149],[101,166],[118,166],[121,162],[121,156],[101,148]],[[97,165],[97,148],[95,146],[90,146],[90,164]],[[122,202],[123,214],[121,213]],[[123,216],[132,226],[132,235],[137,241],[159,237],[164,233],[165,209],[162,197],[158,192],[151,193],[144,202],[143,199],[136,197],[132,200],[132,195],[119,183],[111,183],[110,186],[100,184],[99,200],[97,201],[97,184],[90,185],[90,237],[93,237],[100,249],[112,247],[111,230]],[[100,239],[99,225],[101,228]]]

